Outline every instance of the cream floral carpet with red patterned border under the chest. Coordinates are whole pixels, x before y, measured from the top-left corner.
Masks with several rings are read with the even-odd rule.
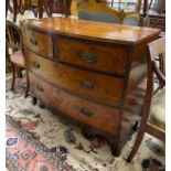
[[[131,163],[129,153],[136,132],[120,157],[111,154],[100,136],[89,136],[47,109],[24,98],[24,78],[10,92],[7,78],[7,168],[10,171],[164,171],[164,145],[146,135]]]

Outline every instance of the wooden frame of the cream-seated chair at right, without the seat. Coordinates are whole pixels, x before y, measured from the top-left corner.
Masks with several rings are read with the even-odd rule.
[[[154,77],[153,73],[159,78],[160,88],[157,88],[158,90],[161,89],[165,85],[165,78],[163,73],[160,71],[160,68],[156,64],[156,57],[159,56],[164,61],[164,54],[165,54],[165,38],[161,38],[157,41],[153,41],[152,43],[149,43],[147,46],[147,61],[148,61],[148,82],[147,82],[147,92],[146,92],[146,98],[145,98],[145,105],[142,109],[142,118],[139,126],[139,131],[137,135],[136,142],[133,145],[133,148],[131,152],[129,153],[127,158],[127,162],[130,162],[132,158],[135,157],[136,152],[139,149],[139,146],[142,141],[142,138],[145,133],[149,133],[156,138],[158,138],[161,141],[165,141],[165,130],[159,128],[158,126],[154,126],[150,122],[149,115],[150,115],[150,105],[151,99],[156,95],[156,90],[153,90],[153,84],[154,84]],[[164,65],[164,63],[162,63]],[[164,66],[163,66],[164,68]]]

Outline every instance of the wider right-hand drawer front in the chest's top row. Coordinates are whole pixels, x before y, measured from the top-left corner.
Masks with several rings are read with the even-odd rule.
[[[57,39],[58,58],[61,62],[124,75],[127,66],[125,49],[85,43],[72,39]]]

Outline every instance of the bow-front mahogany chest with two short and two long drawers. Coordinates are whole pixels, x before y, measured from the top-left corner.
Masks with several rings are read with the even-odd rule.
[[[70,18],[25,20],[21,30],[32,96],[105,136],[118,154],[127,97],[147,72],[146,45],[160,30]]]

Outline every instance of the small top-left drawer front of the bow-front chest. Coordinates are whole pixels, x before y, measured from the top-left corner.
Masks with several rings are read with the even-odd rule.
[[[53,57],[52,36],[30,29],[22,30],[23,43],[33,52]]]

